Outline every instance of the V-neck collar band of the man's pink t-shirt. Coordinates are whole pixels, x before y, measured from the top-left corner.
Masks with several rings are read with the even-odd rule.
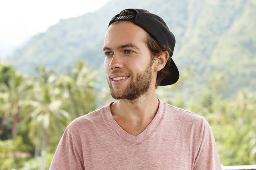
[[[159,99],[158,99],[159,100]],[[114,132],[124,139],[125,141],[128,141],[132,144],[139,145],[143,141],[145,141],[157,128],[159,125],[160,121],[162,120],[162,117],[164,115],[164,102],[159,100],[159,106],[157,113],[154,117],[154,119],[150,122],[150,124],[146,127],[146,129],[141,132],[137,136],[130,135],[127,133],[124,129],[122,129],[119,124],[115,121],[111,114],[111,109],[110,109],[110,103],[108,106],[104,107],[104,117],[106,118],[106,121],[108,122],[109,126],[114,130]]]

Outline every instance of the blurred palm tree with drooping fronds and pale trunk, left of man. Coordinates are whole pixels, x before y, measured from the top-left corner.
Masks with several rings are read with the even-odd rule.
[[[45,170],[47,146],[50,142],[58,142],[71,117],[63,109],[61,93],[56,86],[56,74],[45,67],[37,68],[37,71],[39,77],[34,85],[34,97],[25,103],[30,111],[24,123],[29,127],[29,138],[36,145],[35,156],[41,151],[41,170]]]

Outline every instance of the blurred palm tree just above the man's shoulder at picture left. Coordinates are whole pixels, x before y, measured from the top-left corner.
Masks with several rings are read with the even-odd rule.
[[[88,69],[85,62],[78,62],[72,72],[60,77],[58,86],[66,103],[65,110],[72,115],[72,119],[95,110],[94,77],[94,70]]]

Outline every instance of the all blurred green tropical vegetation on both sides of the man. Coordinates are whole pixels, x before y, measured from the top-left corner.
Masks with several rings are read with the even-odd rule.
[[[66,74],[57,75],[45,67],[26,77],[13,66],[0,65],[0,170],[46,170],[66,126],[76,117],[101,107],[94,91],[95,70],[78,62]],[[164,101],[204,116],[215,135],[223,165],[256,163],[256,97],[243,89],[225,99],[225,75],[209,77],[202,98],[170,97],[193,77],[190,68],[175,86],[157,88]],[[112,101],[108,90],[99,92],[102,102]]]

